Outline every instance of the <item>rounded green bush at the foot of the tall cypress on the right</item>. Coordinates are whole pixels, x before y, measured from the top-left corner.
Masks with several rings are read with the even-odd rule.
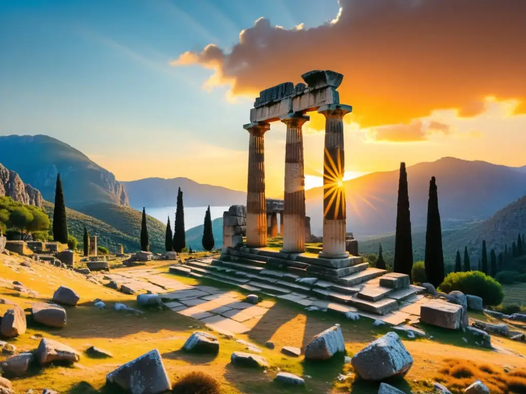
[[[480,271],[448,274],[440,285],[440,291],[450,293],[453,290],[479,296],[484,305],[499,305],[504,298],[501,284]]]

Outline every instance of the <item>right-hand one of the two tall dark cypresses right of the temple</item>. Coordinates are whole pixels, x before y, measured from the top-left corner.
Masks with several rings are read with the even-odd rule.
[[[444,254],[442,250],[442,226],[438,210],[437,182],[429,182],[428,221],[426,231],[426,254],[424,258],[429,283],[438,287],[444,281]]]

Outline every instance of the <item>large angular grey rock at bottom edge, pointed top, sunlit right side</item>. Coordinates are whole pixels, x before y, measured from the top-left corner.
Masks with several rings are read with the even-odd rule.
[[[114,383],[131,394],[159,394],[171,390],[163,358],[157,349],[109,372],[106,382]]]

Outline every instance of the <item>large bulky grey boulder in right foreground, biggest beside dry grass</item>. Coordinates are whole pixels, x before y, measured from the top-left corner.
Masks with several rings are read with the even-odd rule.
[[[382,380],[406,375],[413,358],[394,331],[371,342],[351,360],[355,372],[364,380]]]

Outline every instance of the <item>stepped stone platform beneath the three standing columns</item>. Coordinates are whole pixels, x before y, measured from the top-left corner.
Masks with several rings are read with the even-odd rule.
[[[288,299],[306,307],[378,318],[419,300],[424,292],[409,276],[372,268],[360,256],[325,259],[272,248],[228,248],[219,258],[187,260],[169,271]],[[398,312],[403,322],[412,317]],[[399,324],[399,323],[396,323]]]

